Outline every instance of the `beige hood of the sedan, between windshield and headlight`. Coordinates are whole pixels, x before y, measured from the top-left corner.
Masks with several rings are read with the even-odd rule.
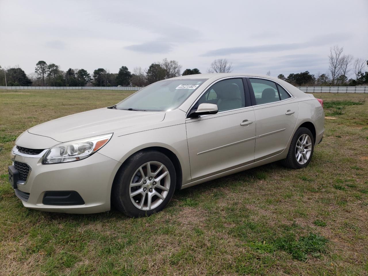
[[[165,112],[101,108],[48,121],[29,128],[28,132],[67,142],[148,126],[162,121],[164,117]]]

